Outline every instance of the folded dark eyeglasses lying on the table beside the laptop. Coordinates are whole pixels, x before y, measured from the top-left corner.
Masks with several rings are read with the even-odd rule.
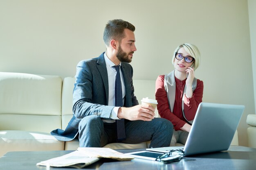
[[[183,153],[184,151],[182,149],[173,149],[168,153],[164,153],[163,155],[158,156],[155,160],[164,163],[180,161],[180,159],[183,157]]]

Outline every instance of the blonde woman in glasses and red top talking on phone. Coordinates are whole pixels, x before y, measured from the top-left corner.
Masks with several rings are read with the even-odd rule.
[[[172,72],[157,77],[155,98],[159,115],[174,126],[171,145],[185,144],[203,97],[203,82],[194,72],[200,64],[200,52],[193,44],[182,44],[174,51],[172,63]]]

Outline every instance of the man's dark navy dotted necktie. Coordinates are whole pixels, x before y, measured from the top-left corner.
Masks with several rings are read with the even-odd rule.
[[[123,107],[123,94],[122,94],[122,84],[120,78],[120,65],[112,66],[116,69],[116,83],[115,83],[115,105],[117,107]],[[124,119],[116,120],[117,123],[117,142],[126,139]]]

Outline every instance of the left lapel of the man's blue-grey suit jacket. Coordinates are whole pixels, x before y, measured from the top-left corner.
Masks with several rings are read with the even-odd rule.
[[[105,87],[105,91],[106,91],[106,100],[108,103],[108,71],[106,68],[106,62],[104,59],[104,52],[98,57],[98,61],[97,61],[97,68],[99,70],[99,73],[101,74],[101,78]]]

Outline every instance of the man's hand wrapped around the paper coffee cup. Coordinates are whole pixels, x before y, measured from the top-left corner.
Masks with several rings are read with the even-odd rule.
[[[137,105],[134,107],[121,107],[118,110],[117,117],[128,120],[150,121],[155,118],[155,109],[150,105]]]

